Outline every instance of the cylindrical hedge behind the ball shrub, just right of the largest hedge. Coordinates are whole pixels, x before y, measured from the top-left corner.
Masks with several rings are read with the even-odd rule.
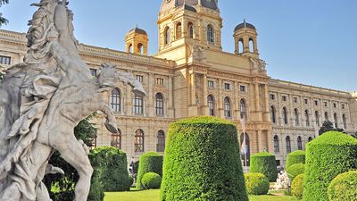
[[[262,152],[251,156],[250,172],[258,172],[264,174],[270,182],[277,180],[277,162],[275,155],[268,152]]]

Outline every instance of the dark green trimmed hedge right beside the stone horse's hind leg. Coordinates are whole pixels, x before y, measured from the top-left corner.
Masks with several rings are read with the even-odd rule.
[[[116,147],[98,147],[89,157],[105,192],[130,189],[127,154]]]

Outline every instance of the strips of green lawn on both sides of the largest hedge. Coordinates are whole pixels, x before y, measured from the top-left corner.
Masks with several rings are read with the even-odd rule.
[[[104,201],[159,201],[160,190],[132,190],[129,192],[105,193]],[[250,196],[250,201],[297,201],[285,196]]]

